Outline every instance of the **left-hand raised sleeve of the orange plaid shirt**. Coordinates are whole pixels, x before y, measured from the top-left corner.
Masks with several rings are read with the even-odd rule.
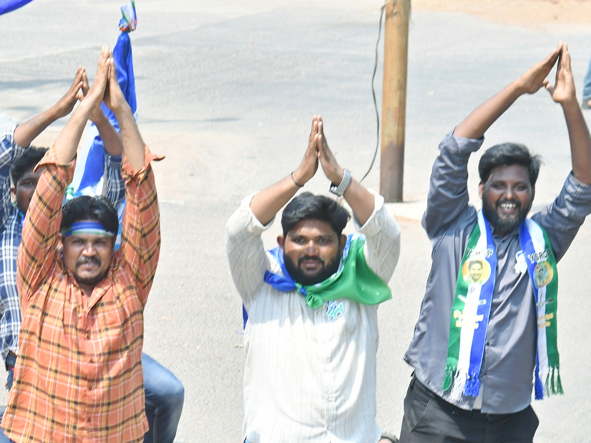
[[[55,266],[61,204],[75,165],[75,160],[60,163],[52,147],[35,168],[41,168],[42,172],[24,219],[17,259],[17,289],[22,312],[35,289]]]

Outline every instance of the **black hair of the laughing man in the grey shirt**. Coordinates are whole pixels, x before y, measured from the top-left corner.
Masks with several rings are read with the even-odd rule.
[[[520,143],[501,143],[486,149],[478,163],[480,181],[486,183],[491,171],[498,166],[520,165],[530,171],[530,184],[535,186],[538,180],[542,159],[539,155],[531,155],[530,150]]]

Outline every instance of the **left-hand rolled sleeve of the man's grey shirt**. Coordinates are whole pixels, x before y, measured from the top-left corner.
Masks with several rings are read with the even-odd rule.
[[[468,208],[468,159],[484,139],[471,139],[447,133],[439,144],[427,196],[423,227],[430,239],[437,237]]]

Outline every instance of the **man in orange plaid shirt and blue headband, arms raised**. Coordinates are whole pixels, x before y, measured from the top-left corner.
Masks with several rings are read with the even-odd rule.
[[[102,197],[79,197],[62,211],[76,149],[104,100],[121,127],[127,206],[118,220]],[[15,442],[139,442],[144,413],[141,349],[144,305],[160,250],[154,177],[108,48],[95,81],[38,165],[22,229],[17,285],[20,353],[2,428]]]

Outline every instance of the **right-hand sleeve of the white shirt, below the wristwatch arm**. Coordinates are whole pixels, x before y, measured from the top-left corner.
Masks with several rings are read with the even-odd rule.
[[[358,232],[365,235],[363,253],[369,269],[388,283],[400,256],[400,227],[384,204],[384,197],[369,190],[375,197],[374,213]]]

